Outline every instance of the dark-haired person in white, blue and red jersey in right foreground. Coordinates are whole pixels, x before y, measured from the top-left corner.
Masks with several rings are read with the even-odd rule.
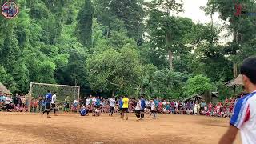
[[[238,130],[240,130],[243,144],[256,142],[256,58],[246,58],[242,62],[240,72],[235,81],[242,82],[249,94],[238,99],[230,119],[230,126],[219,144],[232,144]]]

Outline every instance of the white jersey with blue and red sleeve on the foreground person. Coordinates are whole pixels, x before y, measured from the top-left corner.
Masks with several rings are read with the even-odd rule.
[[[256,91],[238,100],[230,125],[240,130],[243,144],[256,142]]]

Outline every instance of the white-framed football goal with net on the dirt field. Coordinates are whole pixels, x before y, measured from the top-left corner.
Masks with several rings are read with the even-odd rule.
[[[37,83],[30,82],[30,91],[28,94],[29,101],[29,111],[31,108],[32,98],[44,98],[47,94],[47,91],[50,90],[52,93],[57,93],[57,103],[64,103],[65,98],[68,97],[70,102],[77,100],[79,103],[80,100],[80,86],[69,86],[69,85],[58,85],[58,84],[48,84],[48,83]],[[78,107],[79,108],[79,107]],[[78,110],[77,108],[77,110]]]

